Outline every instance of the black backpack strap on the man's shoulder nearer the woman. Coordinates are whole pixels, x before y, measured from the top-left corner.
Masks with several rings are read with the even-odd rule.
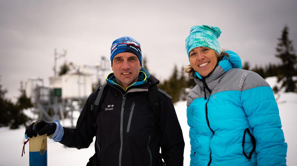
[[[161,136],[161,129],[160,129],[160,111],[161,111],[161,105],[160,105],[160,97],[159,97],[158,91],[159,91],[159,89],[158,89],[157,85],[153,85],[153,86],[149,87],[149,90],[148,90],[148,100],[149,100],[149,109],[154,114],[155,123],[156,123],[156,126],[157,126],[158,143],[159,143],[159,145],[161,147],[161,153],[162,153],[160,160],[162,160],[162,158],[165,156],[165,151],[164,151],[165,149],[163,148],[162,136]],[[164,93],[166,93],[166,92],[164,92]],[[163,158],[163,160],[165,161],[164,158]],[[166,161],[165,161],[165,163],[166,163]],[[164,163],[163,163],[163,165],[164,165]]]

